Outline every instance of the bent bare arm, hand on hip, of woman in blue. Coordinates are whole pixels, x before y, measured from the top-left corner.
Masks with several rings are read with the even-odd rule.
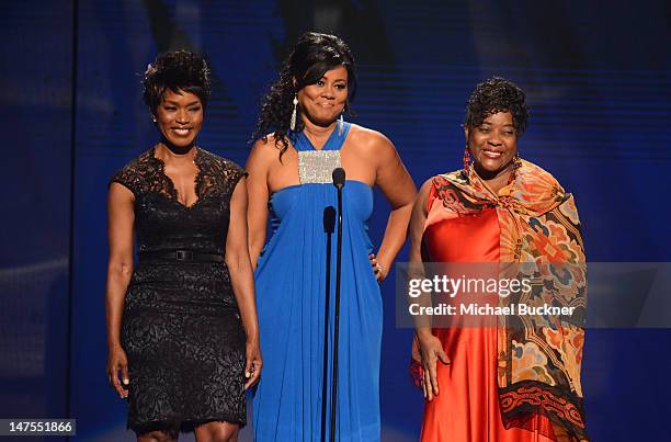
[[[375,184],[380,188],[391,205],[385,236],[376,257],[377,262],[384,268],[383,275],[378,279],[384,279],[406,242],[417,188],[391,141],[382,134],[376,138],[373,152],[379,162]]]

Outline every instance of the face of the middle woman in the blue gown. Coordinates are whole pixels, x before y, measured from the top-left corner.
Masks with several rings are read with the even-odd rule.
[[[348,70],[338,66],[325,72],[315,84],[298,91],[303,116],[318,126],[332,124],[348,101]]]

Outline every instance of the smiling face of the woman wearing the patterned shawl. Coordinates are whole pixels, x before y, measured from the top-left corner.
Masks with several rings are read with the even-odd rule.
[[[466,141],[478,174],[488,180],[508,177],[518,154],[518,133],[510,112],[489,115],[477,127],[466,127]]]

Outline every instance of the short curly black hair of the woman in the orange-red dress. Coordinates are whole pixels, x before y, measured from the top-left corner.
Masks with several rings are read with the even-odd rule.
[[[512,81],[501,77],[492,77],[476,86],[466,104],[464,126],[477,127],[485,118],[498,112],[510,112],[518,136],[526,129],[528,106],[524,91]]]

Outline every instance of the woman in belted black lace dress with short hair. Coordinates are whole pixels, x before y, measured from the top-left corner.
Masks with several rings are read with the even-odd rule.
[[[161,138],[110,183],[107,374],[138,441],[236,440],[261,370],[246,173],[195,145],[202,57],[163,54],[144,86]]]

